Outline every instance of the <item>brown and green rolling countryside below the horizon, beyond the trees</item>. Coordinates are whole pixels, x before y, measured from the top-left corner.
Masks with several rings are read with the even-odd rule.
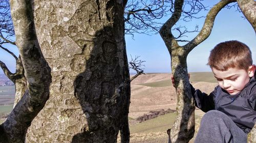
[[[176,92],[170,80],[170,73],[148,73],[140,75],[131,82],[131,104],[129,122],[131,130],[130,142],[167,142],[166,130],[175,121]],[[3,77],[1,76],[0,80]],[[190,82],[196,89],[210,93],[217,85],[211,72],[190,73]],[[13,108],[15,95],[14,85],[0,86],[0,123]],[[170,111],[156,118],[139,121],[139,117],[150,116],[152,112]],[[204,113],[196,109],[196,131]],[[118,138],[120,142],[120,138]],[[190,140],[193,142],[193,139]]]

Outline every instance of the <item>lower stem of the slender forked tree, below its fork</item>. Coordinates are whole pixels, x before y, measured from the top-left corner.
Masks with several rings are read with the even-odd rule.
[[[195,103],[191,94],[187,73],[187,51],[183,47],[172,50],[172,73],[177,79],[177,115],[170,130],[172,142],[188,142],[195,133]]]

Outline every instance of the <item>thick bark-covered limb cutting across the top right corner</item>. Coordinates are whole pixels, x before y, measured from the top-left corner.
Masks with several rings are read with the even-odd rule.
[[[237,2],[256,34],[256,2],[254,0],[237,0]]]

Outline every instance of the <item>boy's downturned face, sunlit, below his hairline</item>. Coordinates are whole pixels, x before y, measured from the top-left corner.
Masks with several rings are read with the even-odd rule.
[[[250,77],[254,76],[255,66],[252,65],[246,71],[244,69],[229,68],[226,71],[219,71],[215,68],[211,69],[222,89],[230,95],[235,95],[242,91],[249,82]]]

